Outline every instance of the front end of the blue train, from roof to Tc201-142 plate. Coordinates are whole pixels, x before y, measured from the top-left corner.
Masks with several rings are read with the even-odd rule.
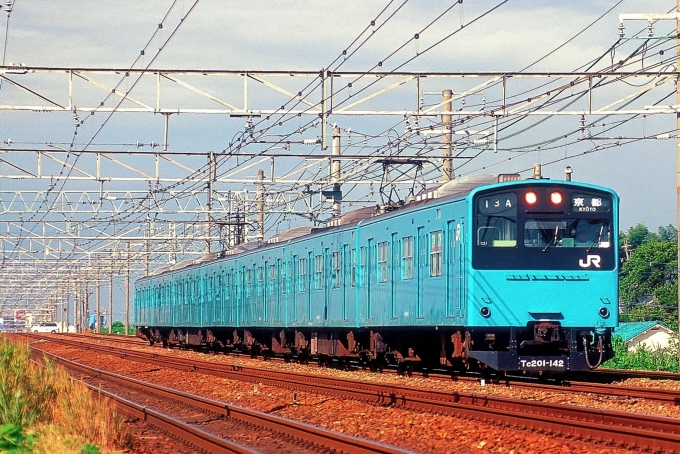
[[[526,180],[469,195],[465,356],[497,370],[594,369],[618,325],[618,196]]]

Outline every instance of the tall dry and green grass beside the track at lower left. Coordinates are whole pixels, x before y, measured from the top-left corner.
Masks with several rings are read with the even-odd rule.
[[[131,446],[111,402],[30,354],[28,344],[0,336],[0,452],[94,454]]]

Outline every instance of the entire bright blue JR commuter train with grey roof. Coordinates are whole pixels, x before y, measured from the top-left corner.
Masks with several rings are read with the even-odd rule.
[[[593,369],[618,324],[618,196],[463,177],[136,283],[138,335],[320,361]]]

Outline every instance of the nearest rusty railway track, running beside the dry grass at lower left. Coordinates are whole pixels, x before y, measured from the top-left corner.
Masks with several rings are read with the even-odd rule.
[[[411,452],[142,382],[85,366],[48,352],[42,353],[80,377],[81,381],[84,381],[93,391],[101,392],[114,400],[124,412],[163,429],[171,436],[184,440],[189,446],[206,452],[243,454],[261,452],[404,454]],[[141,400],[144,404],[136,402]],[[164,410],[159,411],[155,407]],[[173,414],[168,414],[168,412]],[[188,419],[191,422],[187,421]],[[264,434],[264,436],[257,436],[255,443],[252,443],[254,446],[224,438],[224,434],[233,437],[234,434],[242,433],[249,433],[251,438],[253,434]]]

